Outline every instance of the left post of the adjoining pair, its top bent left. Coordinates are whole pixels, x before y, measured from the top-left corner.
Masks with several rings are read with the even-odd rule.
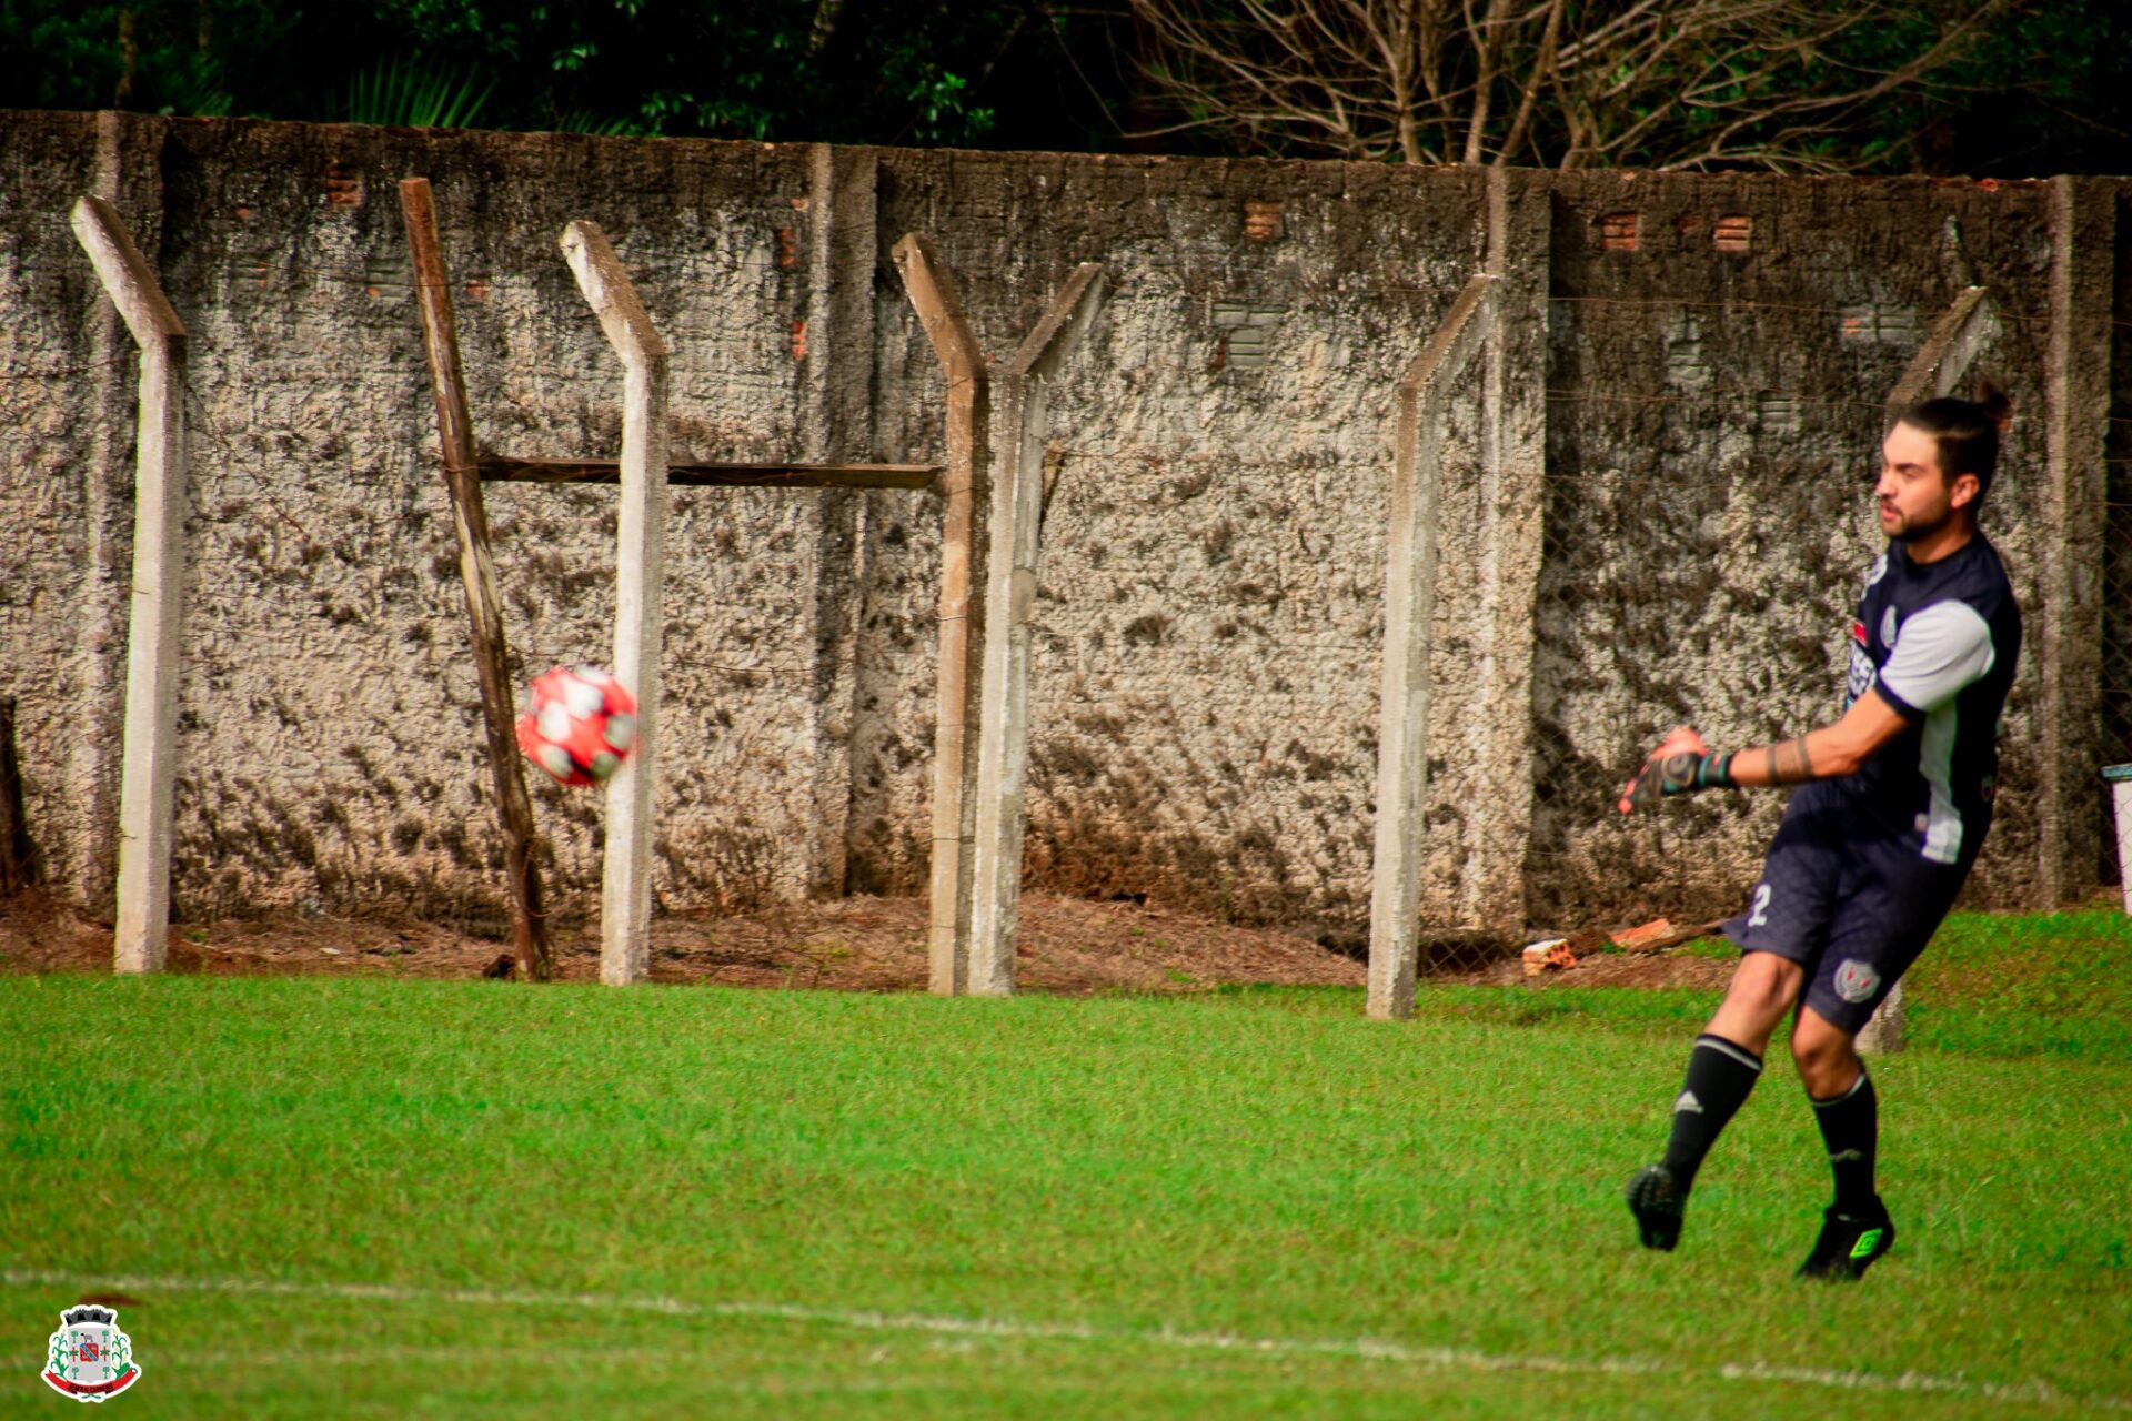
[[[976,837],[976,720],[981,677],[970,675],[985,646],[985,609],[972,597],[983,579],[983,471],[991,462],[991,388],[985,356],[970,334],[962,298],[940,258],[917,232],[895,243],[895,271],[947,373],[947,499],[940,530],[940,671],[934,690],[934,829],[925,931],[927,989],[951,997],[968,984],[970,848]]]

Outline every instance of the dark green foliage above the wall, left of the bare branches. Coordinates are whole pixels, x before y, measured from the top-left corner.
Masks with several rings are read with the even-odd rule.
[[[1036,0],[0,0],[0,107],[976,145],[1066,43]]]

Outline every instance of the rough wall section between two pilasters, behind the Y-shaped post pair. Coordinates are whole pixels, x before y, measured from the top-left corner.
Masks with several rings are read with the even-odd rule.
[[[1051,401],[1036,882],[1245,918],[1367,903],[1390,396],[1477,260],[1477,194],[1345,164],[883,158],[883,232],[934,236],[987,352],[1075,262],[1109,268]],[[934,356],[908,309],[881,330],[889,447],[936,450]],[[883,571],[923,579],[936,528]],[[930,680],[902,688],[861,758],[906,769],[857,818],[908,833]]]

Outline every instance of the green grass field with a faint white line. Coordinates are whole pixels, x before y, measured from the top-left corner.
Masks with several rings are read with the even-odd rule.
[[[1708,993],[0,978],[0,1415],[83,1293],[141,1417],[2132,1410],[2126,948],[1942,933],[1853,1289],[1780,1050],[1633,1246]]]

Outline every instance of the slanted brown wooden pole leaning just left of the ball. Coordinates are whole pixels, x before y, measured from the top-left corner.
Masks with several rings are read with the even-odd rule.
[[[542,908],[539,863],[533,856],[533,801],[527,797],[512,729],[510,667],[503,648],[503,603],[497,597],[497,567],[488,554],[488,509],[475,467],[473,418],[467,413],[467,381],[458,366],[458,322],[452,317],[452,288],[437,243],[437,207],[426,177],[401,183],[401,217],[414,258],[416,311],[422,317],[422,349],[437,392],[437,445],[443,454],[443,488],[452,499],[458,535],[458,579],[467,588],[467,628],[473,639],[473,669],[482,686],[482,724],[488,733],[488,773],[497,795],[497,827],[503,831],[505,891],[512,899],[512,946],[518,971],[531,982],[554,974],[548,925]]]

